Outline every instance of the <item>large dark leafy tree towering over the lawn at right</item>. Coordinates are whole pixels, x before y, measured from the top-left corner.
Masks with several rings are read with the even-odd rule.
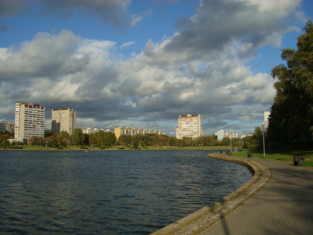
[[[283,49],[280,64],[271,70],[277,81],[267,134],[278,147],[311,144],[313,130],[313,24],[308,20],[297,49]]]

